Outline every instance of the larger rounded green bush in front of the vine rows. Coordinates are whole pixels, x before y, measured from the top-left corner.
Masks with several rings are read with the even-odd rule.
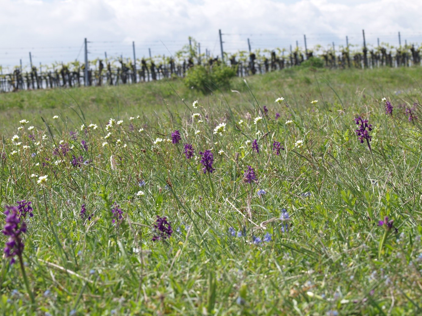
[[[228,66],[214,65],[213,67],[204,67],[196,65],[187,71],[184,83],[186,86],[194,87],[203,93],[210,93],[216,88],[230,88],[230,78],[235,77],[235,68]]]

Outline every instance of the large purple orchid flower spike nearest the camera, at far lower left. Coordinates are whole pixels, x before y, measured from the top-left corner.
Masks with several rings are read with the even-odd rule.
[[[27,226],[22,217],[19,217],[19,211],[16,206],[5,206],[6,210],[6,224],[2,233],[5,236],[9,236],[6,241],[4,253],[6,258],[11,258],[10,264],[15,263],[15,256],[21,257],[24,251],[24,243],[21,238],[21,233],[26,233]]]

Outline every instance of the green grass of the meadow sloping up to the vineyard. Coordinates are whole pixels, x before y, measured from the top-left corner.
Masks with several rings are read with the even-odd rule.
[[[422,313],[422,125],[405,114],[414,107],[422,117],[420,69],[299,69],[246,81],[250,90],[236,78],[238,92],[207,96],[171,81],[186,105],[163,81],[0,95],[0,205],[26,199],[34,208],[23,235],[30,291],[19,263],[3,258],[0,313]],[[274,102],[280,96],[284,102]],[[264,105],[268,115],[254,124]],[[202,123],[192,120],[195,112]],[[356,115],[373,126],[376,168],[354,132]],[[123,123],[106,131],[110,117]],[[17,131],[22,119],[30,122]],[[222,122],[225,131],[214,134]],[[98,128],[85,133],[82,123]],[[174,130],[179,144],[154,144]],[[259,154],[246,144],[254,139]],[[60,141],[71,149],[53,155]],[[280,155],[274,141],[284,146]],[[195,149],[191,159],[184,143]],[[211,148],[215,171],[208,177],[199,152]],[[73,166],[72,155],[89,162]],[[257,177],[251,184],[247,166]],[[38,184],[43,175],[46,183]],[[266,194],[257,195],[260,189]],[[123,211],[117,225],[114,202]],[[92,220],[81,219],[82,204]],[[288,220],[280,220],[282,209]],[[157,215],[168,218],[173,234],[154,242]],[[398,233],[377,225],[385,216]],[[244,236],[231,236],[230,227]],[[267,232],[271,241],[254,244]]]

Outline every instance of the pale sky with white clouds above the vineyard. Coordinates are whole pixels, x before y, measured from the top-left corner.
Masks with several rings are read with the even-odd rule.
[[[191,36],[205,49],[224,51],[304,47],[336,48],[366,42],[422,43],[421,0],[0,0],[3,71],[32,63],[151,54],[170,56]]]

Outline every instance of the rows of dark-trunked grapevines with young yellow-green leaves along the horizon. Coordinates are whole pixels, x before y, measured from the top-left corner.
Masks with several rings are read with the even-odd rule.
[[[317,45],[314,49],[302,49],[298,46],[290,51],[285,49],[238,51],[226,54],[224,59],[211,54],[200,54],[198,44],[186,45],[175,56],[157,56],[143,59],[95,59],[82,64],[79,61],[56,65],[42,70],[32,66],[31,71],[24,72],[22,67],[0,75],[0,92],[18,90],[35,90],[57,87],[77,86],[116,86],[122,84],[161,80],[164,78],[184,78],[195,65],[214,67],[225,64],[232,67],[239,77],[263,74],[300,65],[327,68],[376,68],[409,67],[419,65],[421,46],[414,44],[394,47],[387,44],[369,49],[346,46],[336,51],[334,47],[322,50]],[[135,63],[133,62],[135,60]]]

